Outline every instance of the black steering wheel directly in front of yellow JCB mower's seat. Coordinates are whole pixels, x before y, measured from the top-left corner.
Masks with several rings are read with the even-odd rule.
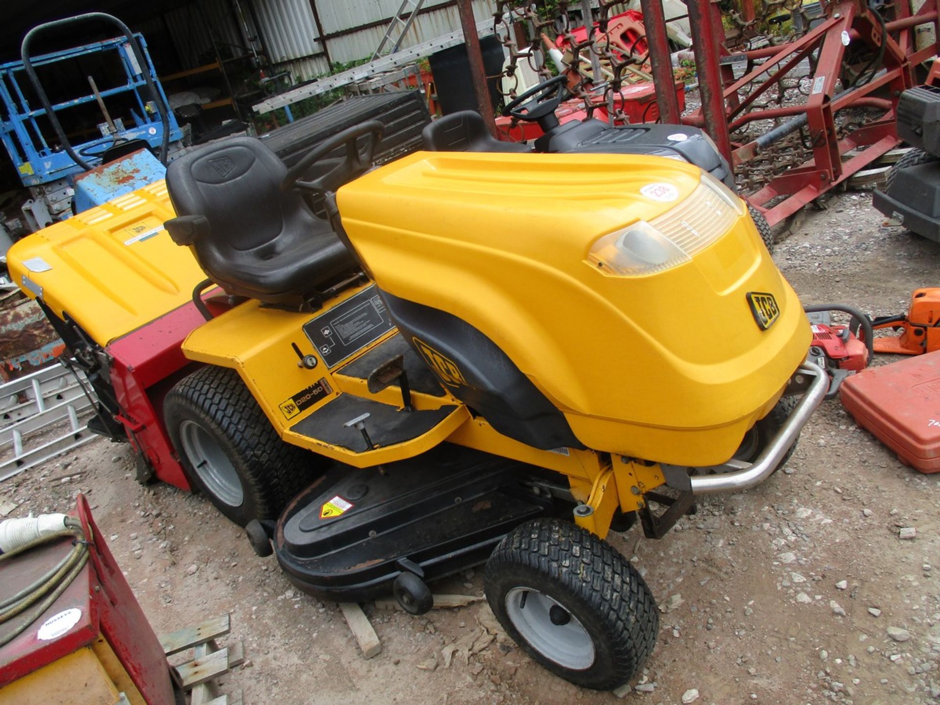
[[[281,191],[290,191],[294,188],[313,191],[318,194],[336,191],[347,181],[355,179],[368,170],[372,165],[375,148],[384,133],[385,126],[381,122],[369,120],[343,130],[341,133],[334,134],[329,139],[324,140],[316,149],[308,151],[297,164],[290,167],[281,181]],[[368,135],[368,139],[365,146],[359,149],[356,140],[364,134]],[[331,151],[342,145],[346,145],[346,156],[342,162],[317,179],[309,181],[302,179],[313,164],[316,164]]]

